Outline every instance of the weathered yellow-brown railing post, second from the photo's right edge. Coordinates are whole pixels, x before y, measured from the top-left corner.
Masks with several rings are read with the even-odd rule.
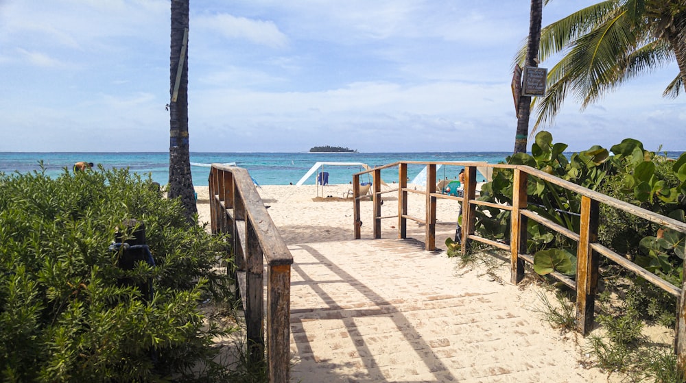
[[[598,293],[598,254],[591,243],[598,240],[598,201],[581,197],[579,244],[576,251],[576,325],[584,336],[593,328]]]

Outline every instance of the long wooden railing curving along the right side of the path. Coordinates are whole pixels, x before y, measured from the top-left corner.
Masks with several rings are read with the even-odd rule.
[[[426,190],[418,191],[414,188],[407,188],[407,165],[419,164],[427,166],[427,186]],[[464,190],[462,197],[453,197],[436,193],[436,166],[464,166]],[[398,188],[381,191],[381,170],[398,167]],[[511,169],[514,172],[514,188],[512,193],[512,205],[505,205],[499,203],[490,203],[486,201],[478,201],[475,199],[476,195],[476,171],[477,166],[484,166],[490,168],[505,168]],[[469,243],[476,240],[481,243],[493,245],[510,254],[510,269],[511,282],[518,284],[524,276],[524,262],[533,263],[533,256],[526,254],[527,242],[527,220],[532,219],[550,230],[562,234],[571,240],[578,242],[577,246],[577,269],[576,280],[573,280],[561,273],[552,273],[551,275],[556,279],[567,284],[570,288],[576,290],[576,324],[578,331],[586,335],[593,325],[593,308],[595,306],[595,295],[598,293],[598,258],[604,256],[613,262],[619,264],[633,273],[643,277],[648,282],[659,286],[670,295],[677,299],[677,321],[676,321],[676,339],[675,350],[680,371],[686,373],[686,297],[685,286],[674,286],[669,282],[663,280],[658,275],[643,269],[639,265],[626,259],[624,256],[615,253],[615,251],[598,243],[598,219],[599,206],[604,203],[607,206],[623,210],[629,214],[646,219],[658,225],[669,227],[672,230],[686,233],[686,223],[676,221],[669,217],[661,216],[649,210],[639,208],[630,203],[613,199],[601,193],[589,190],[577,184],[562,180],[553,175],[549,175],[538,169],[523,165],[508,165],[508,164],[487,164],[475,162],[395,162],[385,166],[379,166],[375,169],[362,171],[353,175],[353,196],[354,196],[354,235],[356,239],[361,238],[360,227],[362,221],[360,220],[360,195],[359,195],[359,177],[372,173],[372,206],[374,223],[373,236],[374,238],[381,238],[381,220],[397,218],[398,219],[398,237],[407,238],[407,220],[416,221],[418,223],[425,223],[425,248],[427,250],[434,250],[436,247],[436,200],[437,199],[454,199],[461,202],[462,210],[462,251],[466,252],[469,249]],[[558,225],[532,210],[527,209],[527,185],[529,177],[536,177],[539,180],[555,184],[565,188],[581,197],[581,217],[580,230],[578,233],[568,230],[566,227]],[[388,181],[388,177],[387,181]],[[390,216],[381,216],[381,195],[383,193],[397,193],[398,195],[398,212]],[[411,217],[407,215],[407,193],[421,193],[426,196],[425,217]],[[362,197],[364,198],[364,197]],[[510,214],[510,241],[509,243],[499,242],[477,236],[475,234],[475,208],[477,206],[488,206],[490,208],[498,208],[502,210],[509,210]]]

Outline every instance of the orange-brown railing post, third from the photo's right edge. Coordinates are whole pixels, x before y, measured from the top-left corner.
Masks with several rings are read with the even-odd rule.
[[[524,279],[524,261],[519,254],[526,253],[527,217],[521,214],[526,209],[526,187],[528,176],[519,169],[514,170],[512,185],[512,214],[510,214],[510,282],[519,284]]]

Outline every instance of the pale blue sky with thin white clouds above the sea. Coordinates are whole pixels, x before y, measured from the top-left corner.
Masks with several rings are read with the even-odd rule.
[[[543,24],[593,2],[552,1]],[[191,151],[511,151],[529,5],[191,0]],[[0,0],[0,73],[0,151],[169,149],[169,0]],[[686,98],[661,97],[676,73],[570,99],[546,129],[686,150]]]

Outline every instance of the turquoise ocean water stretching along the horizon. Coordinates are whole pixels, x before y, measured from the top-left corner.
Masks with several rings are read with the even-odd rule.
[[[511,153],[505,152],[464,152],[464,153],[196,153],[191,152],[191,173],[193,185],[206,186],[209,165],[215,162],[231,163],[241,166],[261,185],[296,184],[300,177],[316,162],[364,162],[369,166],[381,166],[397,161],[480,161],[498,163]],[[668,155],[678,158],[681,152]],[[569,153],[571,155],[571,153]],[[86,161],[101,164],[106,169],[126,168],[167,184],[169,177],[169,153],[14,153],[0,152],[0,172],[27,173],[40,171],[39,161],[43,161],[45,173],[56,177],[64,171],[71,171],[75,162]],[[407,175],[414,178],[423,166],[408,166]],[[439,169],[438,177],[455,178],[460,168]],[[329,173],[330,184],[348,184],[353,173],[361,171],[360,166],[324,166]],[[381,177],[397,180],[397,168],[382,171]],[[363,180],[363,182],[366,180]],[[305,184],[315,184],[316,174],[309,177]]]

